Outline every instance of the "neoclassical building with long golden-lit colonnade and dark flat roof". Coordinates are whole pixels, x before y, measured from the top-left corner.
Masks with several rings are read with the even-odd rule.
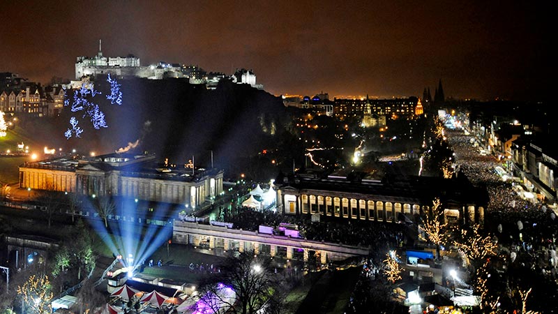
[[[483,223],[488,197],[465,178],[409,177],[394,181],[345,177],[296,177],[278,184],[278,210],[284,214],[347,220],[414,220],[439,198],[444,218],[455,223]]]

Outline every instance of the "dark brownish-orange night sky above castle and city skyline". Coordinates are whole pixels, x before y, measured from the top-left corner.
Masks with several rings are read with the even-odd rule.
[[[346,3],[349,2],[349,3]],[[231,73],[273,94],[550,98],[540,1],[2,1],[0,72],[47,83],[75,57],[135,54]],[[552,27],[551,27],[552,25]],[[551,57],[552,54],[552,57]]]

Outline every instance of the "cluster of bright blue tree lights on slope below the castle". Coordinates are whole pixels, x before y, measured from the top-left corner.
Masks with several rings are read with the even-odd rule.
[[[110,100],[111,104],[122,105],[122,92],[120,91],[120,84],[116,82],[110,74],[107,75],[107,82],[110,84],[110,95],[107,95],[107,100]],[[100,110],[98,104],[93,103],[92,99],[101,94],[100,91],[97,91],[94,87],[89,84],[82,84],[80,89],[74,91],[73,94],[73,101],[70,103],[70,98],[66,97],[64,100],[64,106],[70,106],[70,110],[72,112],[83,112],[82,118],[89,117],[93,128],[99,130],[100,128],[107,128],[107,121],[105,120],[105,113]],[[80,137],[83,133],[83,129],[77,126],[79,121],[76,117],[70,118],[70,125],[72,128],[68,128],[66,132],[64,132],[64,136],[66,139],[70,139],[73,135],[75,137]]]

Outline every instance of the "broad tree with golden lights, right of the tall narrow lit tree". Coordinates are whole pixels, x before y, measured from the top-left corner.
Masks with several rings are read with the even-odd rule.
[[[467,264],[479,262],[487,255],[495,255],[498,245],[492,241],[492,237],[483,237],[478,233],[480,225],[474,225],[470,230],[461,230],[461,238],[453,241],[453,244],[465,256]]]

